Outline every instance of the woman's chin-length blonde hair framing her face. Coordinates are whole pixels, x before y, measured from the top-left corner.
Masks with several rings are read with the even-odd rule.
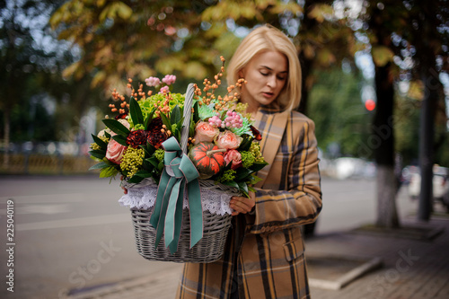
[[[250,62],[251,58],[261,52],[277,51],[288,60],[288,77],[284,90],[277,97],[281,110],[295,110],[301,101],[301,66],[295,45],[282,31],[271,25],[263,25],[251,31],[235,50],[229,66],[226,80],[234,84],[239,79],[239,72]]]

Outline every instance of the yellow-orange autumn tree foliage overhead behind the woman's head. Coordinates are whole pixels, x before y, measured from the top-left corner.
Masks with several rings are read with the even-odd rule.
[[[53,14],[61,39],[83,53],[65,75],[92,73],[108,89],[123,77],[142,81],[157,73],[202,79],[216,73],[217,57],[231,57],[240,36],[260,23],[290,35],[303,66],[303,103],[313,86],[311,70],[351,60],[357,43],[332,1],[69,1]],[[243,32],[243,34],[242,34]],[[336,47],[338,45],[338,47]]]

